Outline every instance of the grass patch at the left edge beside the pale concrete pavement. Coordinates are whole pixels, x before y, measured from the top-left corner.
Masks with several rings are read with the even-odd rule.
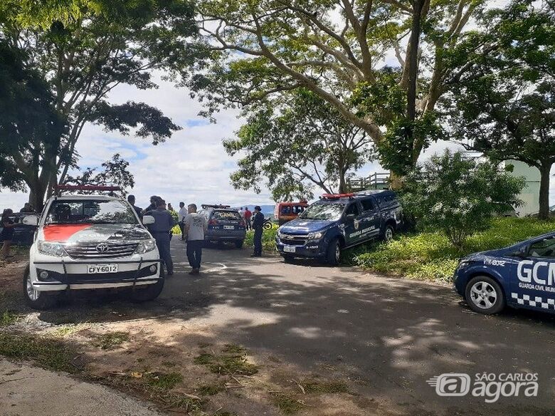
[[[0,355],[15,360],[32,360],[49,370],[80,371],[73,363],[77,352],[53,338],[0,332]]]

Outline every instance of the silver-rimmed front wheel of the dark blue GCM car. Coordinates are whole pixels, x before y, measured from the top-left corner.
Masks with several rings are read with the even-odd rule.
[[[497,281],[488,276],[476,276],[468,282],[465,300],[475,312],[492,315],[505,307],[505,296]]]

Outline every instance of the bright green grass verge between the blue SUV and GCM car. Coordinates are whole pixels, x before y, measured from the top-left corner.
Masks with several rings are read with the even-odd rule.
[[[552,232],[555,222],[532,218],[497,218],[492,227],[470,236],[462,250],[452,246],[441,232],[398,236],[389,243],[358,246],[344,253],[344,261],[364,269],[409,279],[448,283],[462,256],[499,249],[539,234]]]

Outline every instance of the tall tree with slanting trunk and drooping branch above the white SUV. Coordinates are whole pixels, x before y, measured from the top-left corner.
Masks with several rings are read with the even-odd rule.
[[[196,33],[191,4],[184,0],[7,0],[0,4],[0,38],[25,50],[48,82],[56,110],[69,124],[56,163],[41,165],[41,183],[31,188],[31,203],[41,206],[44,192],[65,181],[75,165],[75,145],[86,123],[150,138],[155,145],[179,126],[156,108],[128,101],[111,104],[117,85],[157,88],[152,71],[186,68],[196,52],[188,40]],[[14,167],[23,170],[16,163]]]

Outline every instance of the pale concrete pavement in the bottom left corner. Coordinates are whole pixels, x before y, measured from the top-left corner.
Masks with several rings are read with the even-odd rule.
[[[0,360],[0,416],[161,416],[102,385]]]

